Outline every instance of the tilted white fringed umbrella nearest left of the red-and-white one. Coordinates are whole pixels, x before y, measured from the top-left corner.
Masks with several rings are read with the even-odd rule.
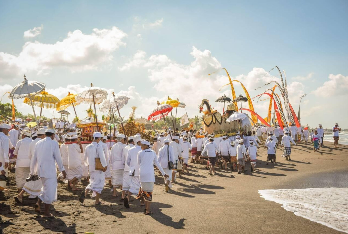
[[[109,99],[106,99],[102,106],[99,108],[101,112],[108,112],[110,111],[111,116],[111,109],[112,109],[112,120],[113,120],[113,128],[115,132],[115,119],[113,114],[113,109],[117,109],[118,116],[121,118],[120,109],[127,105],[129,100],[129,97],[127,96],[115,96],[115,93],[112,92],[112,97]],[[121,126],[123,129],[124,134],[126,135],[125,127],[123,126],[123,123],[121,122]],[[111,133],[111,124],[110,124],[110,133]],[[126,136],[127,137],[127,136]]]

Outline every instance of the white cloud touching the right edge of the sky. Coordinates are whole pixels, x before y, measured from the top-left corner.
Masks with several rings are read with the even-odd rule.
[[[313,93],[318,97],[332,97],[347,95],[348,76],[341,74],[330,74],[329,81],[325,81],[323,86],[318,87]]]

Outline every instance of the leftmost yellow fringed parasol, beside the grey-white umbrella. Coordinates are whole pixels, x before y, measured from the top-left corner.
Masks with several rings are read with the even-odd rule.
[[[60,102],[60,100],[56,96],[46,92],[45,88],[38,94],[31,96],[31,101],[34,106],[41,107],[40,117],[42,113],[42,108],[57,108],[57,104]],[[27,97],[24,98],[24,103],[31,105],[30,99]]]

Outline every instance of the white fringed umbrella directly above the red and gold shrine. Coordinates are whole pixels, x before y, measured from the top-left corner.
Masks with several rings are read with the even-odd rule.
[[[92,83],[90,83],[90,86],[88,89],[86,89],[83,92],[80,92],[78,95],[76,95],[75,100],[77,103],[84,103],[84,104],[93,104],[94,106],[94,114],[95,114],[95,122],[98,127],[98,119],[97,119],[97,110],[95,108],[95,104],[102,103],[105,99],[108,93],[105,89],[94,87]]]

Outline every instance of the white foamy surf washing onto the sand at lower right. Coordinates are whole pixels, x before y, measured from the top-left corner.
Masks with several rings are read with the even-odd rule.
[[[348,233],[348,188],[264,189],[259,194],[297,216]]]

